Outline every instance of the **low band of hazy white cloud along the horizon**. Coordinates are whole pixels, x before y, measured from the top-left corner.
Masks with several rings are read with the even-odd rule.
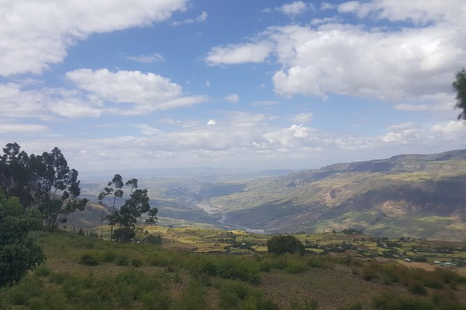
[[[255,166],[258,163],[266,166],[275,163],[284,166],[285,158],[286,163],[293,160],[290,167],[303,168],[309,165],[310,158],[315,162],[314,165],[332,163],[335,154],[343,151],[348,161],[351,161],[356,158],[374,158],[374,154],[380,154],[381,157],[399,154],[404,146],[410,153],[440,152],[463,147],[462,143],[466,139],[463,122],[392,124],[380,135],[360,136],[348,132],[324,131],[302,124],[264,124],[272,119],[274,115],[238,111],[229,113],[215,126],[204,123],[196,127],[158,131],[151,125],[138,124],[136,127],[141,129],[140,136],[23,138],[17,142],[26,152],[36,154],[60,145],[73,167],[78,170],[98,170],[102,165],[112,163],[133,168],[155,165],[212,166],[215,163],[224,165],[225,161],[237,166],[242,163]],[[0,135],[3,144],[10,142],[9,139],[9,135]],[[116,140],[118,143],[115,143]],[[83,150],[92,152],[81,152]]]

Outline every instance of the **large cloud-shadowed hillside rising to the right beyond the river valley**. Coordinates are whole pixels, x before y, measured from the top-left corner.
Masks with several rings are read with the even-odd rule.
[[[229,223],[269,232],[356,228],[466,240],[466,150],[340,163],[210,198]]]

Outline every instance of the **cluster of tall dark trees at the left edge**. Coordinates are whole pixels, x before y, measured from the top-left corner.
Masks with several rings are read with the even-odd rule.
[[[20,145],[8,143],[0,158],[0,188],[19,197],[24,209],[42,212],[43,224],[53,231],[65,223],[70,213],[84,210],[78,172],[70,169],[58,147],[42,155],[28,156]]]

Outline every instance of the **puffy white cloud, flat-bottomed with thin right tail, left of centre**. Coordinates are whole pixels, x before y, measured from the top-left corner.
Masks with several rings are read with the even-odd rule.
[[[128,115],[192,106],[207,99],[205,96],[184,96],[180,85],[153,73],[79,69],[67,72],[66,78],[89,92],[90,98],[134,104],[132,109],[114,109],[116,113]]]

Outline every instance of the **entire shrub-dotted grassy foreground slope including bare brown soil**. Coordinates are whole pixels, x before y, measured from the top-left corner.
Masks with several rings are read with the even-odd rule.
[[[449,268],[36,234],[47,263],[2,289],[0,309],[466,309],[466,278]]]

